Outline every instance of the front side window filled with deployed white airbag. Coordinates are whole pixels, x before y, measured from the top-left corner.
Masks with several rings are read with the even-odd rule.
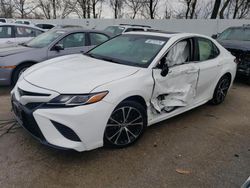
[[[169,67],[187,63],[190,58],[190,42],[184,40],[175,44],[166,55],[166,62]]]

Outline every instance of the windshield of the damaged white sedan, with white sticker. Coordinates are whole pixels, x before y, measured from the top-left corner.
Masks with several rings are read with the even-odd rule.
[[[150,35],[120,35],[86,55],[124,65],[148,67],[168,38]]]

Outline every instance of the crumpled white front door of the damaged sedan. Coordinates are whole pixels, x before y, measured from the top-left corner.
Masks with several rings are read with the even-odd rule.
[[[192,64],[173,67],[166,77],[162,77],[159,70],[154,70],[153,108],[159,113],[187,106],[196,96],[198,75],[199,68]]]

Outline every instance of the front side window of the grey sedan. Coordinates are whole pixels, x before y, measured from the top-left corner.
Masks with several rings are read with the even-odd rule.
[[[64,48],[74,48],[85,46],[85,33],[73,33],[64,37],[59,44]]]

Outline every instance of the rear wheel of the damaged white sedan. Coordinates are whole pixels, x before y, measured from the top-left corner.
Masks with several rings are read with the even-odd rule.
[[[213,98],[210,101],[213,105],[221,104],[227,95],[228,89],[231,84],[231,79],[228,75],[221,77],[214,90]]]

